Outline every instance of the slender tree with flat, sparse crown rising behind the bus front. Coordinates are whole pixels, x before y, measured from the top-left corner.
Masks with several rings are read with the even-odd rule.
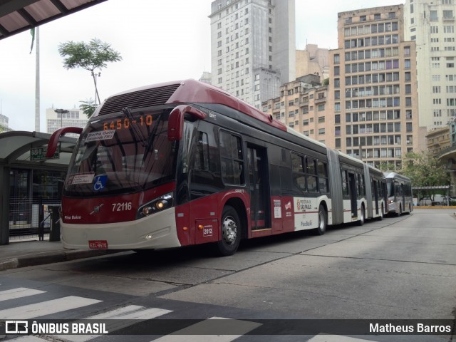
[[[110,44],[93,38],[89,43],[83,41],[67,41],[58,46],[58,53],[63,57],[63,67],[66,69],[83,68],[90,71],[95,86],[95,106],[100,104],[98,95],[97,77],[101,75],[101,68],[106,67],[108,62],[122,61],[118,51],[113,50]],[[95,69],[100,69],[98,73]]]

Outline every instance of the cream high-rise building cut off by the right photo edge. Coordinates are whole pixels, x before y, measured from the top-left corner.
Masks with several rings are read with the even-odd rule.
[[[407,0],[405,40],[415,41],[420,125],[447,126],[456,115],[455,0]]]

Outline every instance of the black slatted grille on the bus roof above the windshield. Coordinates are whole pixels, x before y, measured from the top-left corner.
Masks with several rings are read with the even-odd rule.
[[[125,107],[136,109],[151,107],[152,105],[164,105],[179,86],[178,83],[113,96],[106,100],[98,115],[120,112]]]

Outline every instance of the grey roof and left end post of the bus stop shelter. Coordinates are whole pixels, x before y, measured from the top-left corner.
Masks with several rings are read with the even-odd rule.
[[[50,134],[13,131],[0,134],[0,244],[9,243],[11,170],[50,170],[67,172],[76,138],[62,137],[58,155],[46,160]]]

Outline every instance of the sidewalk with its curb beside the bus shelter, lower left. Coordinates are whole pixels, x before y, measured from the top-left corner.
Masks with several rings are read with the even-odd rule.
[[[0,271],[19,267],[52,264],[54,262],[98,257],[123,252],[106,249],[64,249],[60,241],[49,242],[28,239],[0,245]]]

